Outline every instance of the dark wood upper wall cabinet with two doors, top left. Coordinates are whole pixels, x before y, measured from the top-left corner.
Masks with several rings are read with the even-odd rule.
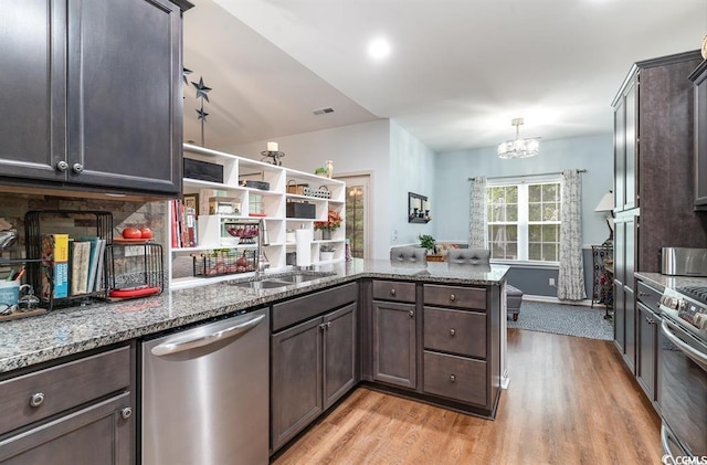
[[[8,91],[0,94],[0,184],[179,194],[180,7],[9,1],[0,17]]]

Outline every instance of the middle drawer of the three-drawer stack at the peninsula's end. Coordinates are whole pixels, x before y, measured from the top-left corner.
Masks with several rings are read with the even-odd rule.
[[[424,308],[424,348],[486,357],[486,314]]]

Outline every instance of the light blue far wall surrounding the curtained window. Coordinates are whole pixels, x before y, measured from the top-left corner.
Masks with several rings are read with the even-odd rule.
[[[540,154],[519,160],[502,160],[496,147],[439,154],[435,163],[436,218],[434,236],[440,241],[466,241],[468,230],[468,178],[542,175],[583,168],[582,243],[601,244],[609,237],[604,213],[594,208],[613,189],[613,135],[541,140]]]

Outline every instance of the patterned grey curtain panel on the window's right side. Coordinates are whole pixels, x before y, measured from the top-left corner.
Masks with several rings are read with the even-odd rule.
[[[557,297],[561,300],[582,300],[587,298],[582,258],[582,179],[578,170],[569,169],[562,171],[562,180]]]

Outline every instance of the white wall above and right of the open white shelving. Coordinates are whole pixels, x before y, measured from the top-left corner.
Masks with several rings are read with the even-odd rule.
[[[388,257],[390,241],[390,121],[361,123],[315,133],[271,139],[285,152],[283,166],[314,172],[325,160],[334,161],[335,176],[371,172],[371,205],[373,234],[372,253],[376,258]],[[266,140],[234,146],[229,154],[260,160]],[[405,192],[407,195],[407,192]],[[407,202],[407,200],[405,200]]]

